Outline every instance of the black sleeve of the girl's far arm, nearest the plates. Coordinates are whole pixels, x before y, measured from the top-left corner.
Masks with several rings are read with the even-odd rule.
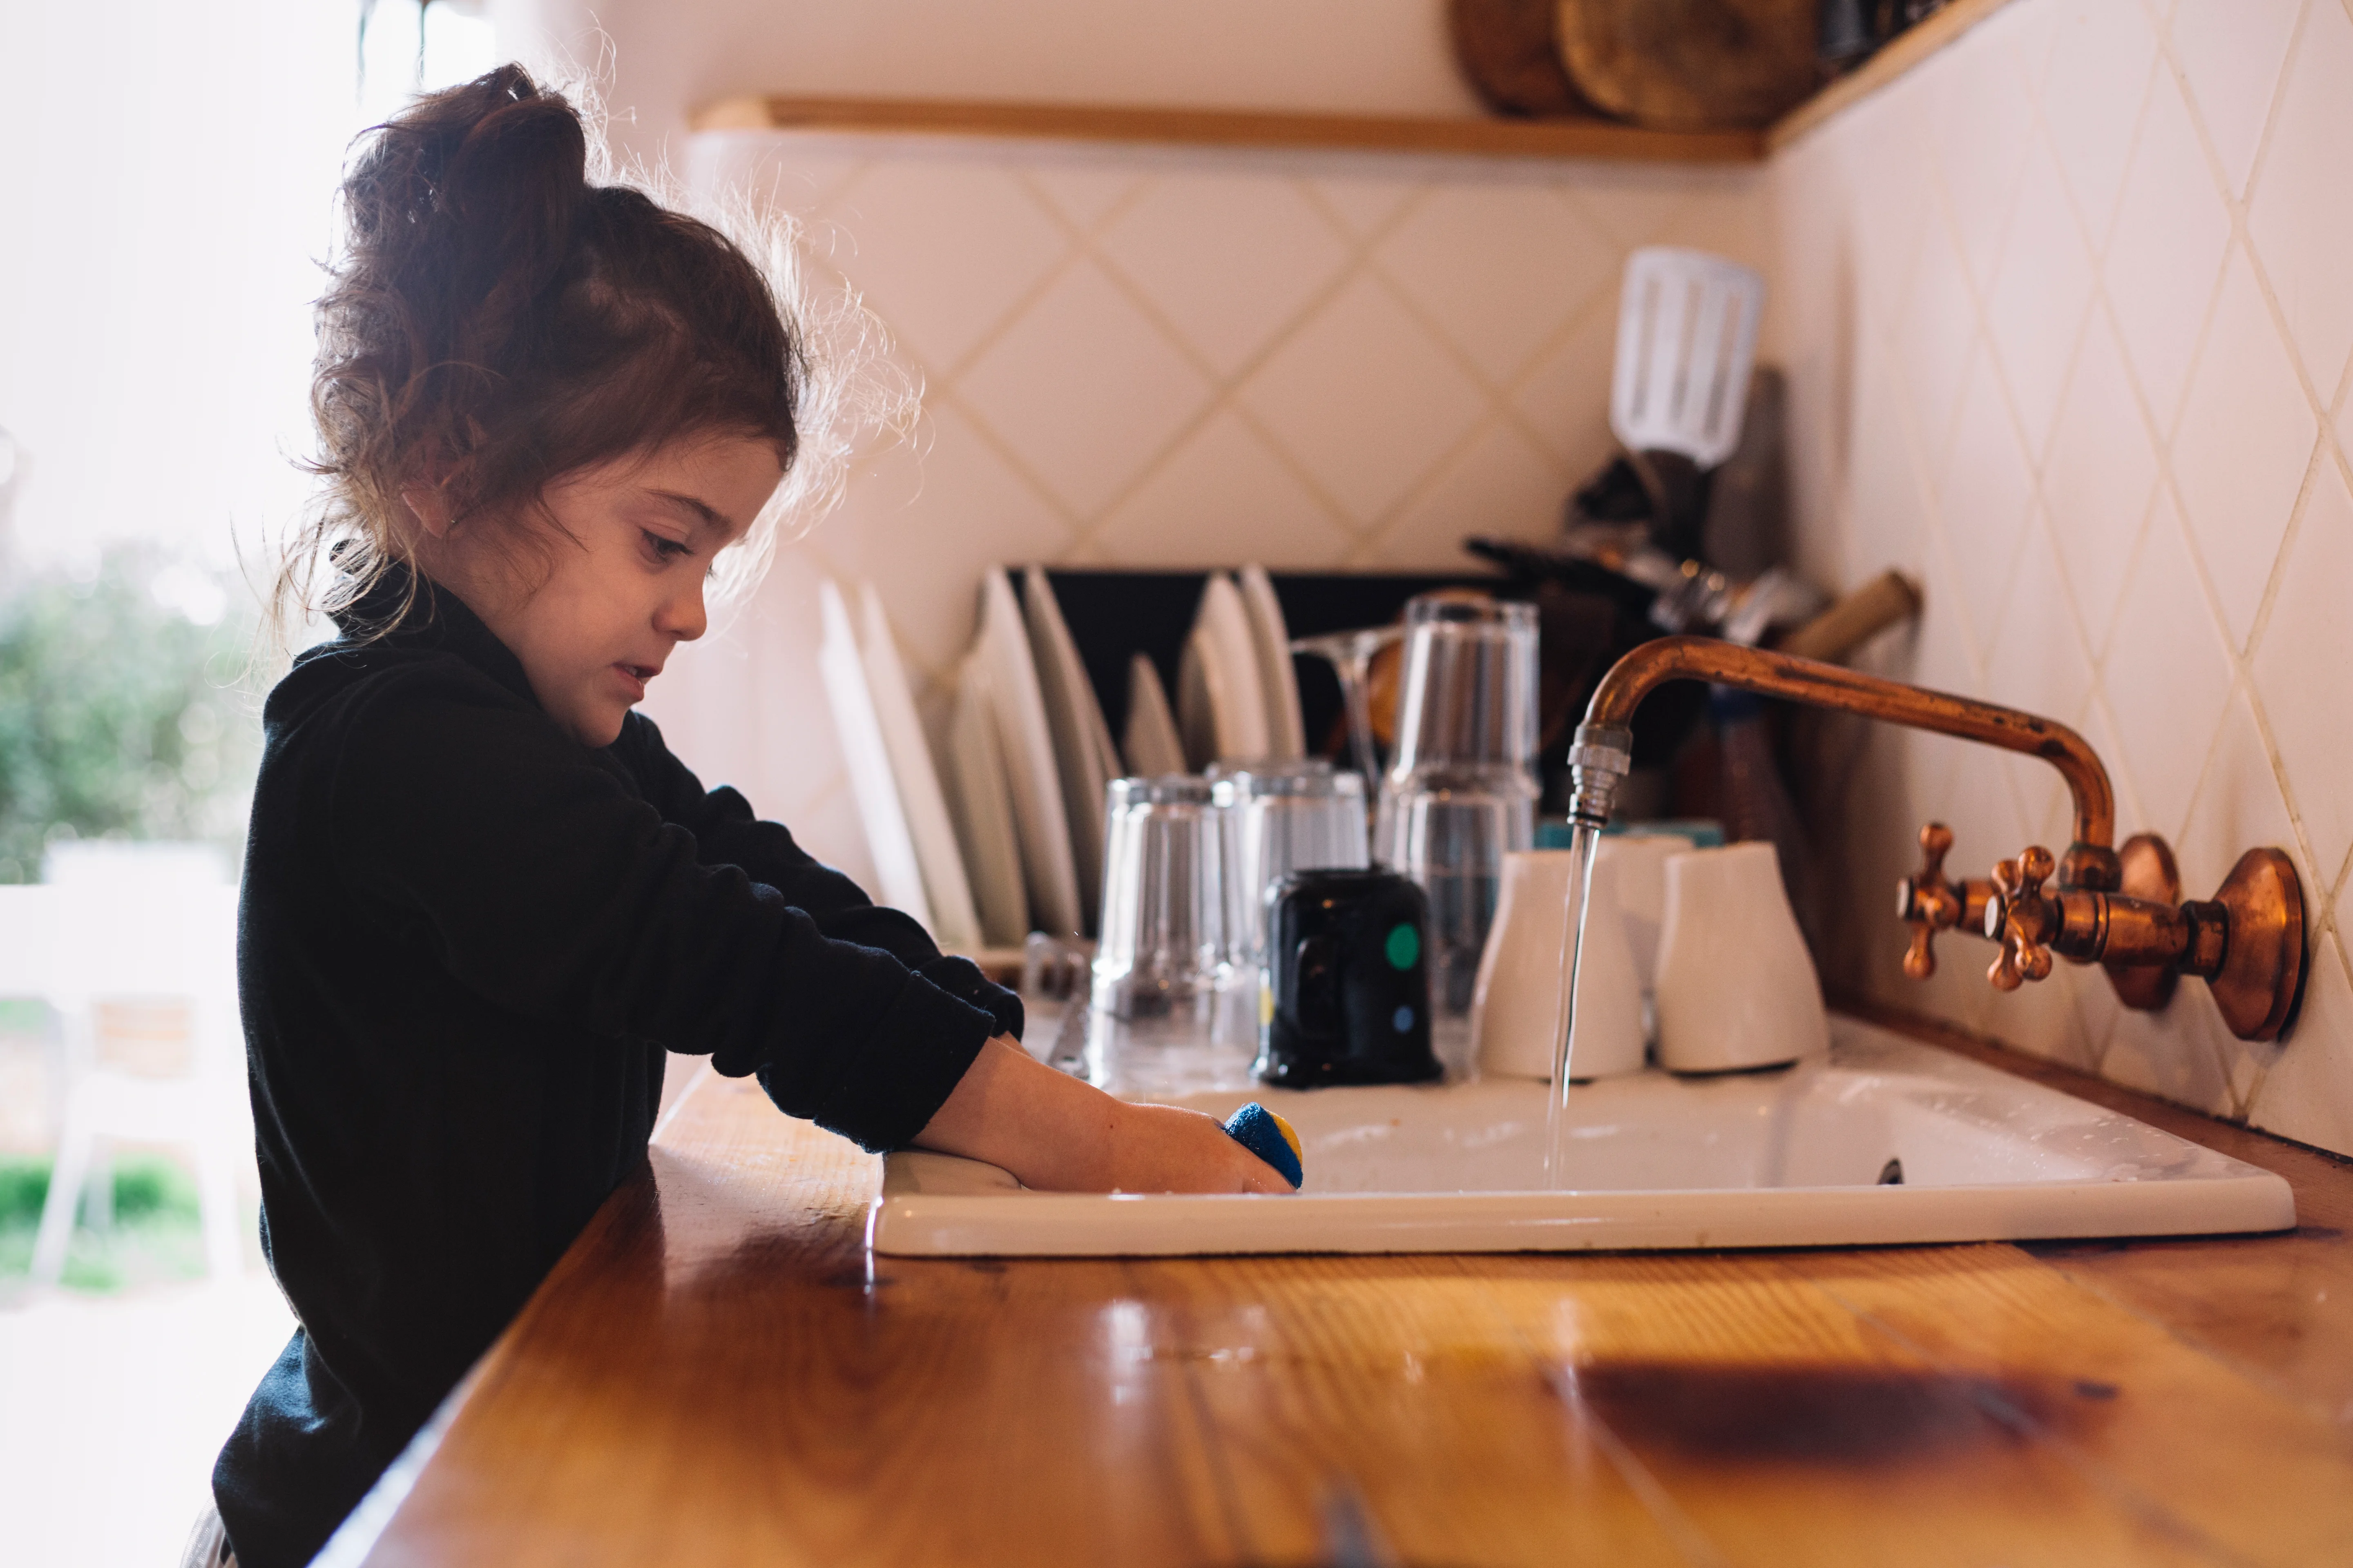
[[[951,997],[986,1011],[1000,1034],[1021,1039],[1016,992],[993,985],[972,959],[944,957],[915,917],[873,903],[856,882],[795,844],[784,823],[755,816],[739,790],[704,790],[642,712],[628,715],[612,750],[661,818],[694,835],[706,865],[744,867],[753,882],[765,882],[795,910],[805,910],[826,936],[889,952]]]

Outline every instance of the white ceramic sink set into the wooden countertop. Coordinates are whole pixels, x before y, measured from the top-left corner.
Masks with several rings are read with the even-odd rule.
[[[1859,1246],[2287,1229],[2287,1182],[1951,1051],[1831,1020],[1779,1072],[1602,1079],[1569,1093],[1569,1190],[1544,1190],[1525,1079],[1153,1095],[1261,1100],[1299,1131],[1297,1197],[1031,1192],[998,1166],[882,1161],[878,1253],[1518,1253]]]

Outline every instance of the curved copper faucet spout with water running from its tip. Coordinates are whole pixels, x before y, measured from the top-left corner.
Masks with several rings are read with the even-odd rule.
[[[2017,708],[1979,703],[1946,691],[1861,675],[1814,658],[1769,654],[1715,637],[1659,637],[1609,668],[1586,705],[1586,722],[1569,748],[1574,769],[1574,816],[1609,820],[1617,780],[1631,759],[1628,722],[1642,698],[1671,679],[1704,679],[1762,696],[1859,712],[1889,724],[1929,729],[1941,736],[1981,741],[2002,750],[2042,757],[2066,778],[2075,799],[2075,842],[2059,860],[2057,886],[2115,891],[2115,790],[2092,745],[2066,724]]]

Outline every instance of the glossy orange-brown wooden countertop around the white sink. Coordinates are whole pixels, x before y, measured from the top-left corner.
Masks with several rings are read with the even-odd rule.
[[[2353,1166],[1927,1034],[2280,1171],[2304,1227],[868,1258],[873,1159],[701,1072],[365,1561],[1313,1563],[1351,1488],[1369,1561],[2353,1563]]]

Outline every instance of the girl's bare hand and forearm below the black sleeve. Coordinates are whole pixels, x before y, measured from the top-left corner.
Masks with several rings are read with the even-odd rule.
[[[1007,1034],[981,1046],[915,1147],[986,1159],[1045,1192],[1292,1190],[1214,1117],[1115,1100]]]

